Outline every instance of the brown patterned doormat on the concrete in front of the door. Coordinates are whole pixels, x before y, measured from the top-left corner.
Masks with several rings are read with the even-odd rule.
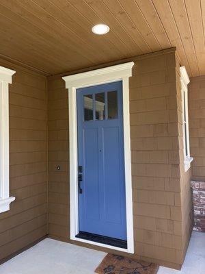
[[[98,274],[156,274],[158,264],[107,254],[96,268]]]

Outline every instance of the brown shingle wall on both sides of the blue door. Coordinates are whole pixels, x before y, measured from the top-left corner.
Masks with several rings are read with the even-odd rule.
[[[131,59],[131,155],[135,258],[180,268],[188,237],[189,173],[182,170],[178,60],[173,50]],[[129,60],[130,61],[130,60]],[[49,77],[49,235],[69,239],[68,91]],[[57,171],[57,164],[61,170]],[[188,193],[189,194],[189,193]],[[128,254],[126,254],[128,256]]]

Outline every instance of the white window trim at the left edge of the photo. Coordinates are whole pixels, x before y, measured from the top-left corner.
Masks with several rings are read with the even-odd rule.
[[[9,96],[8,86],[16,71],[0,66],[0,213],[10,210]]]

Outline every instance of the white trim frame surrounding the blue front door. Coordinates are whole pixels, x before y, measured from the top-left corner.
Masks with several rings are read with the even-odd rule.
[[[70,132],[70,239],[86,242],[91,245],[107,247],[118,251],[134,253],[133,237],[133,192],[131,177],[131,138],[130,138],[130,112],[129,112],[129,88],[128,77],[132,75],[134,62],[109,66],[105,69],[97,69],[86,73],[79,73],[62,77],[68,88],[69,101],[69,132]],[[124,163],[125,163],[125,187],[126,187],[126,229],[127,249],[100,244],[90,240],[77,238],[79,233],[78,212],[78,161],[77,161],[77,88],[95,86],[122,80],[123,94],[123,125],[124,125]]]

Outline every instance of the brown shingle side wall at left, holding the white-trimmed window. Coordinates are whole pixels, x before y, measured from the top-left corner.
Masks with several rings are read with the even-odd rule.
[[[0,260],[46,235],[46,77],[14,69],[9,86],[10,211],[0,214]]]

